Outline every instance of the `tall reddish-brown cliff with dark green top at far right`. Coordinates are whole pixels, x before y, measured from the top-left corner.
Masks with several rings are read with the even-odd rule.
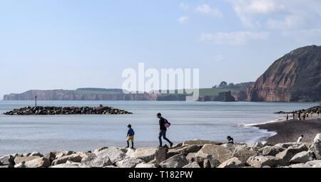
[[[248,89],[248,101],[321,101],[321,46],[275,61]]]

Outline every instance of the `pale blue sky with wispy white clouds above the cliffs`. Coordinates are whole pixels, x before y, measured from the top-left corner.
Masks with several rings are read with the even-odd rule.
[[[255,81],[321,43],[320,0],[0,0],[0,98],[121,88],[124,69],[200,69],[200,87]]]

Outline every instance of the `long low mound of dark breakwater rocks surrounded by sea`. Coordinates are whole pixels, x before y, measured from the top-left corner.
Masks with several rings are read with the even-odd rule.
[[[6,115],[68,115],[68,114],[131,114],[118,108],[99,107],[55,107],[55,106],[26,106],[4,113]]]

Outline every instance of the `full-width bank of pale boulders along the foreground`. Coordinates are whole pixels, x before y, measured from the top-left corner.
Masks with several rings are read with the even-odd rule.
[[[14,153],[0,168],[320,168],[321,133],[312,143],[184,141],[173,148],[97,148],[93,152]]]

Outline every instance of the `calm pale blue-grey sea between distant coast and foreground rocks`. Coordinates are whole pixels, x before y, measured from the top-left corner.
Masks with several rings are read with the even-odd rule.
[[[32,106],[33,101],[0,101],[0,113]],[[126,126],[136,131],[136,146],[158,145],[156,113],[172,123],[167,136],[175,143],[195,138],[258,141],[271,133],[247,126],[279,118],[275,111],[308,108],[317,103],[221,103],[185,101],[39,101],[39,106],[113,106],[133,115],[5,116],[0,114],[0,155],[68,149],[90,151],[125,146]]]

